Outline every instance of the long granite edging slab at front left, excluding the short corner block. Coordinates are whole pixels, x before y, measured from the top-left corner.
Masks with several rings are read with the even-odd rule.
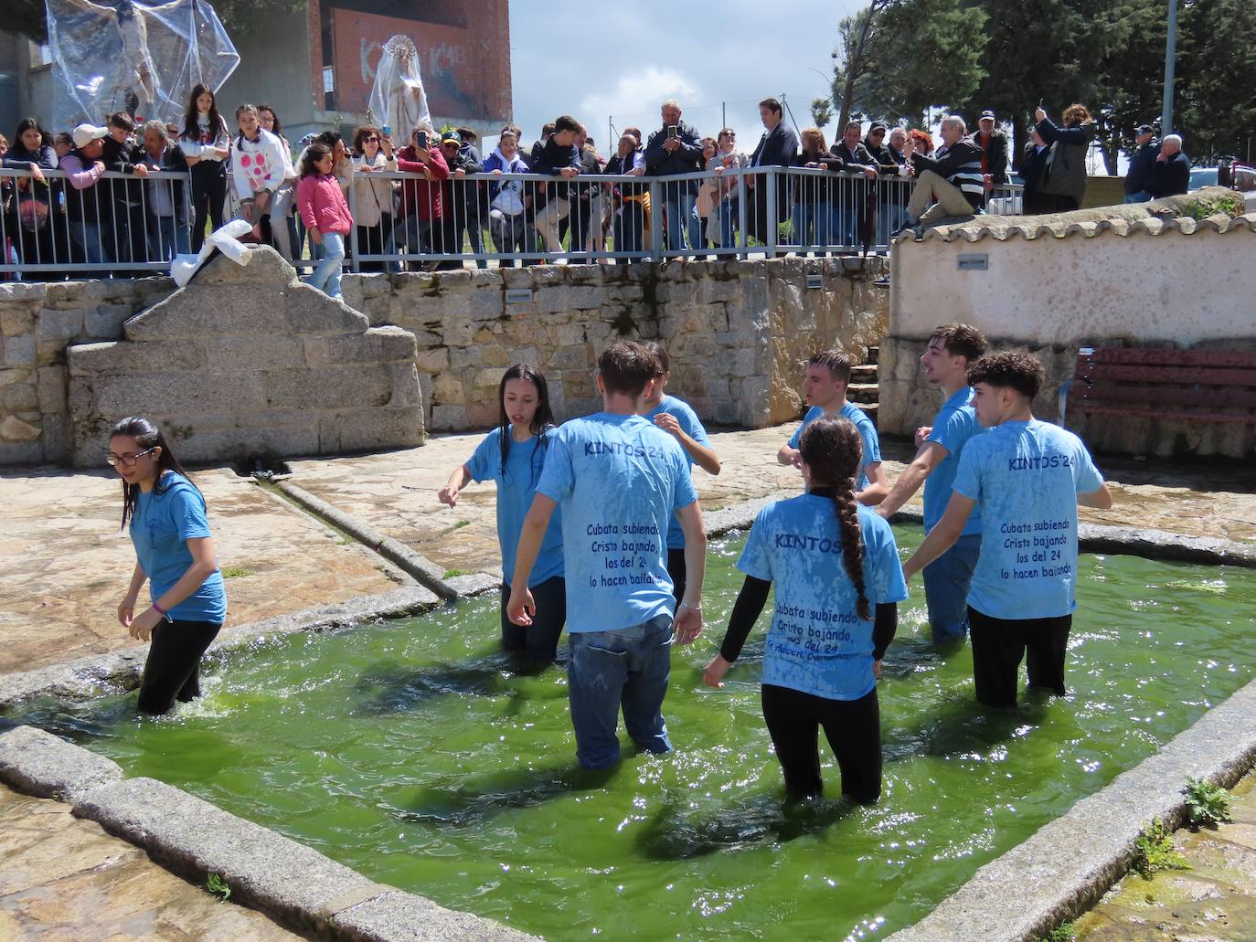
[[[372,883],[304,844],[153,779],[99,789],[73,814],[143,848],[192,883],[221,874],[234,899],[300,932],[381,941],[531,938]],[[342,908],[347,897],[350,906]]]

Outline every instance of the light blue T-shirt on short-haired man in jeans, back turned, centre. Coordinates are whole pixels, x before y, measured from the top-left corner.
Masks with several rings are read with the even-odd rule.
[[[563,509],[568,632],[614,632],[672,614],[667,526],[698,496],[679,443],[641,416],[561,425],[539,494]]]

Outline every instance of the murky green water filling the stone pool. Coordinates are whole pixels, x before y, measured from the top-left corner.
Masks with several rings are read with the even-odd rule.
[[[904,550],[919,543],[897,533]],[[137,718],[133,693],[20,718],[545,938],[854,939],[919,919],[1253,674],[1251,573],[1083,556],[1070,696],[987,712],[968,649],[927,643],[916,583],[879,688],[880,803],[786,809],[759,708],[771,602],[727,686],[701,683],[741,541],[712,541],[707,629],[673,654],[676,751],[629,751],[609,775],[575,767],[561,668],[521,674],[497,652],[496,595],[260,644],[211,666],[206,696],[162,720]],[[828,746],[821,757],[836,795]]]

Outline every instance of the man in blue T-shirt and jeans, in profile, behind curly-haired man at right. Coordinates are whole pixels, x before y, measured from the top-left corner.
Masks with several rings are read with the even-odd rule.
[[[946,512],[963,446],[982,432],[970,404],[968,367],[985,352],[986,338],[968,324],[942,324],[929,335],[921,369],[942,391],[945,401],[933,425],[916,430],[916,457],[877,507],[887,520],[919,490],[922,481],[924,530],[932,530]],[[968,633],[968,585],[980,549],[981,514],[973,510],[955,545],[924,566],[924,602],[934,643],[962,642]]]

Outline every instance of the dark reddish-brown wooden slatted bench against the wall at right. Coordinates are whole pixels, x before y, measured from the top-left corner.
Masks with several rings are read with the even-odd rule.
[[[1256,423],[1256,352],[1083,348],[1065,412]],[[1064,397],[1061,397],[1064,398]]]

